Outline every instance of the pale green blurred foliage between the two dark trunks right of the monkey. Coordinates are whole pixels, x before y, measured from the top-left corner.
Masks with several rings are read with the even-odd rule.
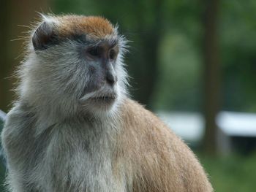
[[[199,110],[200,55],[186,35],[170,33],[162,39],[159,71],[161,78],[157,80],[159,86],[154,91],[153,100],[155,109]],[[197,97],[187,98],[193,95]]]

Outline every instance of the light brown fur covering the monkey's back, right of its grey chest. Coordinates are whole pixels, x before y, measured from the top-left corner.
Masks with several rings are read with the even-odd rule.
[[[159,118],[129,99],[121,114],[116,165],[134,192],[213,191],[195,155]]]

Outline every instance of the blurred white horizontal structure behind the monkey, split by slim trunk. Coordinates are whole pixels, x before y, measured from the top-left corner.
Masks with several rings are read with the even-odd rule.
[[[195,112],[157,112],[167,126],[187,142],[203,139],[205,121]],[[232,137],[256,138],[256,114],[245,112],[219,112],[217,115],[217,143],[221,153],[230,153]]]

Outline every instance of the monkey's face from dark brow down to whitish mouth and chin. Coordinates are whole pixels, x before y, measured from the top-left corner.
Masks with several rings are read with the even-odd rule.
[[[120,95],[118,74],[121,69],[118,61],[118,39],[99,39],[96,42],[81,44],[79,57],[86,65],[88,80],[80,97],[80,103],[107,109]],[[84,61],[84,62],[83,62]]]

